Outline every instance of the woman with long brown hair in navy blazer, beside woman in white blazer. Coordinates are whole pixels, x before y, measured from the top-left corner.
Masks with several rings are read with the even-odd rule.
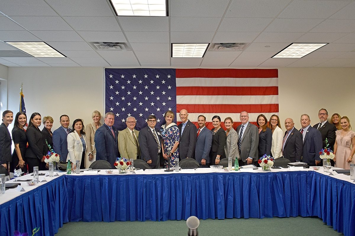
[[[267,119],[263,114],[258,115],[256,119],[259,126],[259,158],[264,154],[271,155],[272,132],[267,127]]]

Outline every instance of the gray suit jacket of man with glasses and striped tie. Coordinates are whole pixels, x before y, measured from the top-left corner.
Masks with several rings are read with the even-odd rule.
[[[242,125],[237,127],[237,133],[239,136],[239,131]],[[243,138],[240,144],[240,157],[243,162],[246,162],[248,157],[251,157],[253,161],[258,160],[258,145],[259,145],[259,132],[256,125],[248,123],[247,127],[244,127]]]

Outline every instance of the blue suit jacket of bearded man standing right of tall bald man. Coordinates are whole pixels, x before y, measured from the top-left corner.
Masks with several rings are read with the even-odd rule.
[[[184,131],[185,132],[185,131]],[[196,133],[197,134],[197,133]],[[204,127],[196,140],[195,159],[201,164],[202,159],[206,159],[206,163],[210,163],[209,151],[212,146],[212,131]]]

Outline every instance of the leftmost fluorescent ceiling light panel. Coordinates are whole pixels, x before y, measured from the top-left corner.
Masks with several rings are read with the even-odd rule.
[[[6,42],[33,57],[65,57],[45,42]]]

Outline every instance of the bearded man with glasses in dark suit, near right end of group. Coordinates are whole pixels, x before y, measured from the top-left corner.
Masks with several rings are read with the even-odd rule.
[[[335,125],[328,122],[327,120],[328,111],[324,108],[318,111],[318,118],[320,122],[313,125],[313,128],[316,128],[321,132],[322,140],[323,140],[323,148],[329,144],[328,148],[334,150],[335,131],[337,131],[337,127],[335,127]],[[331,165],[334,166],[333,160],[331,160]]]

